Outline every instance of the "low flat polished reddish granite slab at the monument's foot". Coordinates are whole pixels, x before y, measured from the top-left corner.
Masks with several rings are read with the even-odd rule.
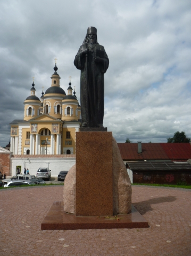
[[[55,201],[41,223],[41,230],[148,228],[148,222],[134,206],[131,208],[131,213],[118,214],[118,216],[119,220],[99,219],[96,216],[76,216],[64,212],[62,201]]]

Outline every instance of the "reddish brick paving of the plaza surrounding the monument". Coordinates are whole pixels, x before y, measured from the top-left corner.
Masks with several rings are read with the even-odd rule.
[[[132,186],[132,203],[147,229],[41,231],[62,196],[62,186],[0,190],[0,255],[191,255],[191,190]]]

